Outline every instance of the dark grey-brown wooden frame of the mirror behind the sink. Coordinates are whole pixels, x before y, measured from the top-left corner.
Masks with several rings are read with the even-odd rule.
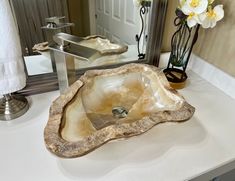
[[[86,70],[115,68],[128,63],[145,63],[158,66],[161,54],[161,45],[163,39],[166,11],[167,0],[152,0],[151,21],[149,23],[150,28],[145,59],[113,65],[88,67],[78,70],[76,72],[76,76],[80,77],[84,74]],[[59,85],[57,79],[57,72],[52,72],[40,75],[27,76],[26,87],[18,91],[17,93],[28,96],[32,94],[54,91],[58,89]]]

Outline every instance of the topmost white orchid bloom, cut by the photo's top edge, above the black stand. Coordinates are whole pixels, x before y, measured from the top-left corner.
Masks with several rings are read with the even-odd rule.
[[[208,6],[208,0],[186,0],[185,3],[183,1],[181,3],[183,3],[181,10],[185,15],[201,14],[206,11]]]

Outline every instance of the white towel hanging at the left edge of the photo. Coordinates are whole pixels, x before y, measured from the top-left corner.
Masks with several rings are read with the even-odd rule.
[[[0,0],[0,95],[15,92],[25,85],[18,29],[9,0]]]

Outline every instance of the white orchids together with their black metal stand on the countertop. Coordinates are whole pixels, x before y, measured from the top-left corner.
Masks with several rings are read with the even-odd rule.
[[[171,39],[171,54],[167,68],[167,80],[173,88],[186,85],[186,68],[198,39],[199,28],[214,28],[223,19],[223,5],[214,5],[214,0],[179,0],[174,21],[177,27]]]

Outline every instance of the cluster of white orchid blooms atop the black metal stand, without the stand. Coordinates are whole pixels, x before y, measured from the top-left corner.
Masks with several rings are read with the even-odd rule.
[[[214,0],[179,0],[180,5],[176,14],[185,19],[192,28],[201,25],[203,28],[214,28],[223,19],[223,5],[214,6]]]

